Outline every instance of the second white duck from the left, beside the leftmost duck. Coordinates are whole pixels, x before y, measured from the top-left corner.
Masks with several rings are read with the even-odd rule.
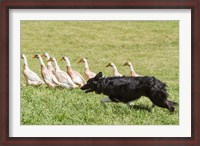
[[[48,70],[47,67],[45,66],[42,57],[39,54],[36,54],[33,56],[33,58],[37,58],[40,61],[41,64],[41,74],[43,77],[44,82],[49,86],[49,87],[56,87],[56,86],[61,86],[61,83],[56,79],[52,71]]]

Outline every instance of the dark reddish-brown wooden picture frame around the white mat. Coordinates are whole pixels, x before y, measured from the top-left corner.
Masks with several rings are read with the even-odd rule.
[[[188,145],[199,146],[200,102],[199,0],[3,0],[1,2],[1,136],[0,145]],[[192,136],[191,137],[9,137],[9,10],[10,9],[191,9],[192,10]],[[134,131],[133,131],[134,132]],[[173,131],[172,131],[173,132]]]

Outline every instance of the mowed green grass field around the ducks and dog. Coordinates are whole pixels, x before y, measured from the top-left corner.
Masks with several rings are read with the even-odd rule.
[[[131,61],[138,74],[155,76],[168,85],[169,99],[179,102],[179,23],[178,21],[21,21],[21,53],[30,69],[40,77],[35,54],[48,52],[57,60],[69,57],[72,68],[83,75],[81,57],[90,69],[112,76],[105,66],[115,63],[119,72],[129,75],[125,61]],[[44,60],[45,61],[45,60]],[[65,62],[59,62],[66,71]],[[80,89],[25,86],[21,60],[22,125],[178,125],[179,107],[170,113],[141,97],[134,107],[106,103],[105,95],[85,94]]]

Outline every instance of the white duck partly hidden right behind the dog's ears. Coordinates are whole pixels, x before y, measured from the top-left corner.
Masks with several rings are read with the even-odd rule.
[[[86,79],[88,80],[90,78],[95,77],[96,74],[94,72],[90,71],[89,65],[88,65],[88,62],[87,62],[86,58],[81,58],[78,61],[78,63],[81,63],[81,62],[84,64],[84,74],[85,74]]]

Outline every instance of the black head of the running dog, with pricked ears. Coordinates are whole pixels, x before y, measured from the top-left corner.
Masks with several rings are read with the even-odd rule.
[[[87,81],[87,83],[81,87],[81,90],[85,90],[85,93],[88,92],[97,92],[98,89],[98,81],[103,77],[102,72],[99,72],[94,78],[91,78]]]

